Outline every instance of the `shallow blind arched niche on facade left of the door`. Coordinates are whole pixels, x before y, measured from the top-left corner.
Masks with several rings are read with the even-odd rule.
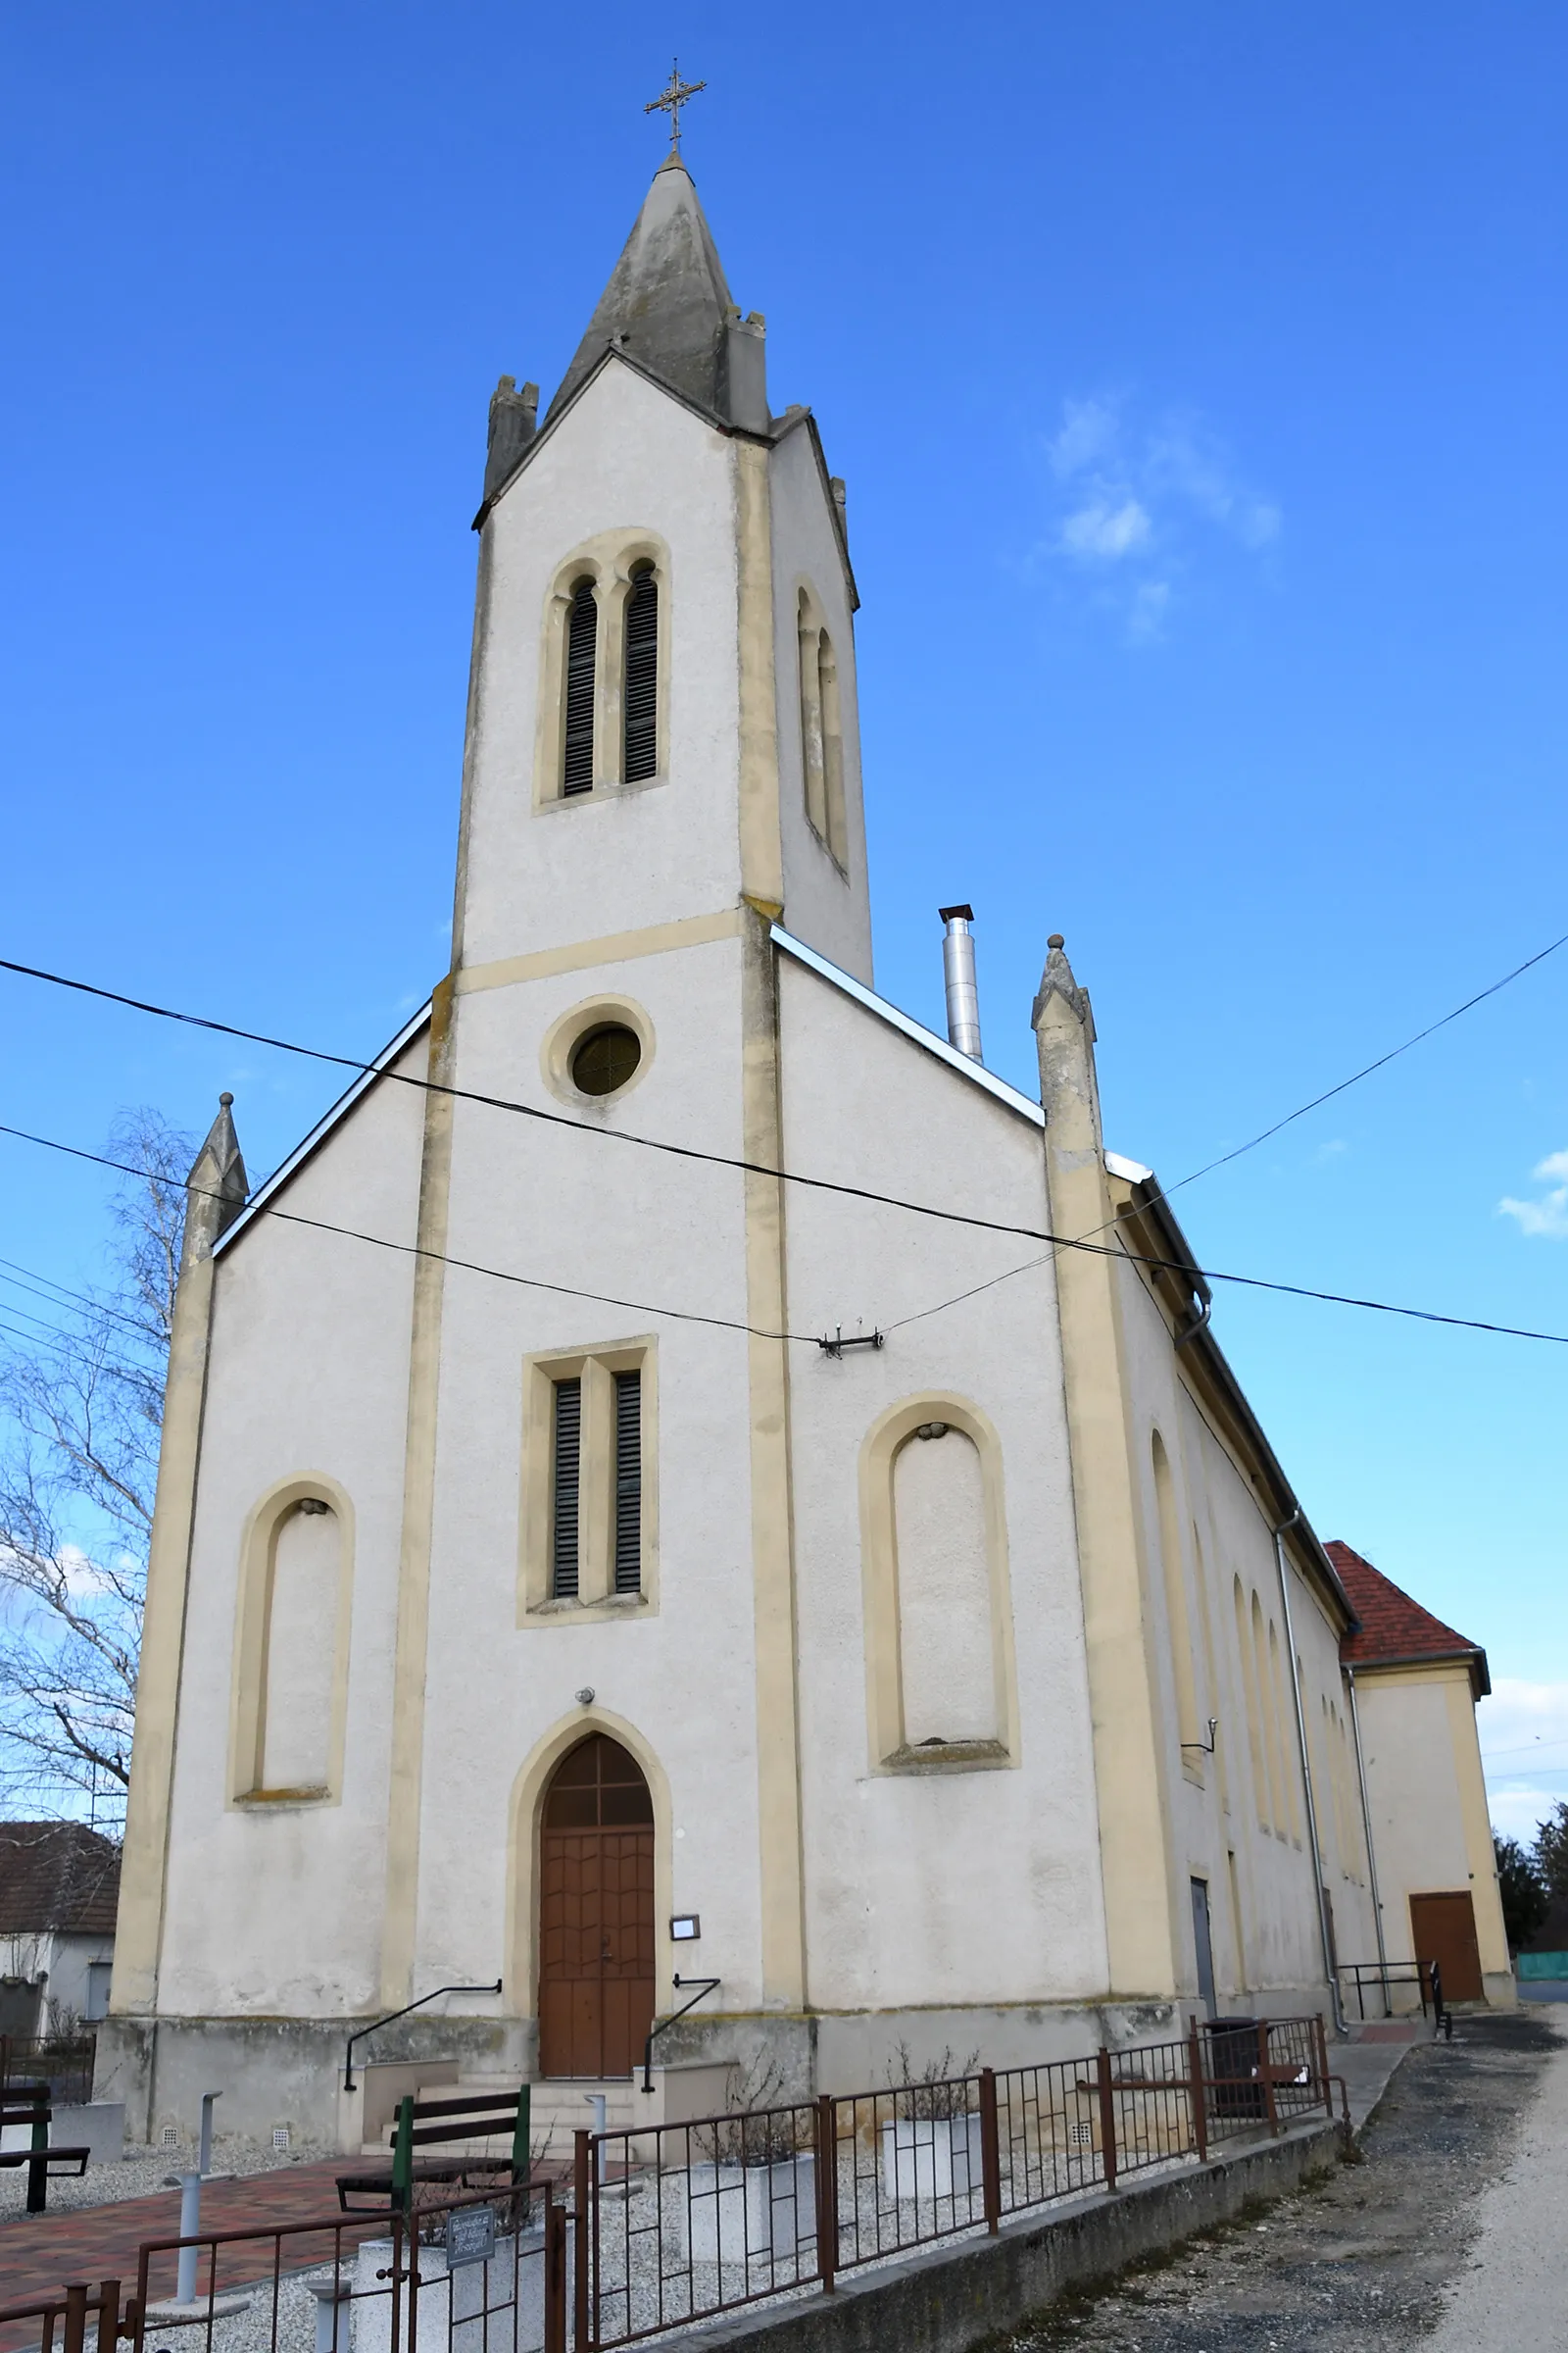
[[[284,1489],[252,1520],[240,1591],[235,1795],[341,1786],[350,1529],[343,1499]]]

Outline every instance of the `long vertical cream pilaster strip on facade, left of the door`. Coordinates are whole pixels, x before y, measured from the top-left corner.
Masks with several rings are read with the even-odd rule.
[[[456,1005],[442,981],[430,1002],[430,1078],[451,1085]],[[418,1247],[409,1332],[409,1407],[402,1457],[402,1541],[397,1555],[397,1649],[393,1659],[393,1760],[386,1826],[386,1925],[381,2002],[414,2000],[418,1939],[418,1807],[425,1760],[425,1654],[430,1638],[430,1548],[435,1539],[435,1419],[442,1381],[447,1212],[451,1198],[451,1096],[425,1096],[418,1169]]]

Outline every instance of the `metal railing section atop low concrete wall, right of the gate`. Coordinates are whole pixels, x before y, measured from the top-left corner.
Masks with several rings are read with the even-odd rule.
[[[745,2115],[578,2132],[574,2353],[764,2297],[1324,2111],[1321,2019],[980,2068]],[[585,2226],[578,2226],[578,2219]]]

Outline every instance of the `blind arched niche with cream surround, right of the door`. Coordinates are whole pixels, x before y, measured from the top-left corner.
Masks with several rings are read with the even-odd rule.
[[[959,1398],[884,1414],[860,1454],[872,1755],[884,1769],[1018,1755],[1001,1449]]]

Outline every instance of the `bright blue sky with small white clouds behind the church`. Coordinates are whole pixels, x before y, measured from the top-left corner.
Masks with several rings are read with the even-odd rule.
[[[1561,9],[59,0],[0,42],[7,955],[348,1052],[425,995],[487,398],[564,369],[672,49],[773,405],[849,480],[886,995],[940,1024],[971,899],[1027,1085],[1063,929],[1171,1181],[1568,929]],[[0,1002],[0,1118],[87,1146],[228,1085],[263,1172],[331,1092]],[[1568,1332],[1566,1005],[1561,951],[1182,1191],[1204,1261]],[[71,1280],[103,1191],[0,1144],[0,1221]],[[1568,1348],[1215,1329],[1319,1532],[1488,1645],[1533,1821]]]

